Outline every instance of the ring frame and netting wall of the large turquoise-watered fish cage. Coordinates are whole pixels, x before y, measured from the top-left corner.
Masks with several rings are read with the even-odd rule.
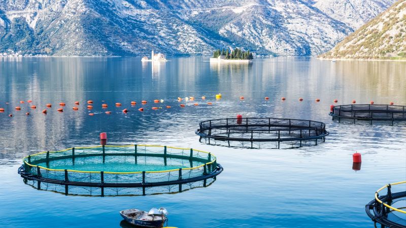
[[[125,153],[120,150],[109,151],[108,148],[127,148]],[[78,149],[94,149],[98,150],[89,151],[87,153],[78,153]],[[144,148],[141,150],[140,148]],[[161,148],[162,151],[150,151],[149,148]],[[170,152],[169,149],[173,149],[174,152]],[[76,150],[76,153],[75,153]],[[116,153],[116,152],[120,153]],[[144,153],[143,153],[144,151]],[[185,153],[188,151],[188,153]],[[148,153],[147,153],[148,152]],[[191,168],[179,168],[163,171],[137,171],[137,172],[108,172],[108,171],[84,171],[84,170],[69,170],[69,169],[50,169],[36,164],[48,163],[49,161],[58,159],[75,159],[91,156],[103,156],[103,162],[107,156],[132,156],[137,163],[139,157],[161,157],[164,159],[165,165],[168,158],[189,160]],[[206,157],[204,157],[206,156]],[[202,165],[192,167],[192,162],[200,162]],[[192,148],[180,148],[172,146],[160,146],[160,145],[99,145],[89,147],[72,147],[58,151],[44,151],[42,153],[29,155],[24,157],[23,165],[18,169],[18,173],[24,178],[24,181],[32,180],[37,181],[38,189],[41,189],[41,182],[59,184],[65,186],[65,194],[69,194],[69,186],[83,186],[83,187],[99,187],[101,188],[101,196],[104,196],[104,188],[126,188],[126,187],[141,187],[143,194],[145,189],[154,186],[167,186],[167,185],[179,185],[179,192],[182,192],[182,184],[204,181],[206,186],[206,180],[209,178],[216,179],[216,176],[223,171],[223,167],[217,163],[217,159],[211,153],[206,151],[192,149]],[[53,172],[49,173],[49,172]],[[194,172],[194,173],[192,173]],[[85,174],[88,181],[72,180],[72,175]],[[162,178],[154,177],[154,175],[165,174],[164,178],[168,180],[161,181]],[[187,175],[188,174],[188,175]],[[93,175],[93,177],[92,177]],[[109,178],[106,178],[110,175]],[[138,181],[128,181],[128,178],[137,176],[134,178]],[[151,176],[152,175],[152,176]],[[90,178],[88,177],[90,176]],[[127,178],[125,178],[127,177]],[[80,179],[80,178],[74,178]],[[82,178],[83,179],[83,178]],[[114,179],[116,181],[114,181]],[[154,181],[158,179],[159,181]],[[122,180],[122,181],[120,181]]]

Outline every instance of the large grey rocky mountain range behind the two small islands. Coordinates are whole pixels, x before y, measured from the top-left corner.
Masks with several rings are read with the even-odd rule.
[[[393,2],[3,0],[0,51],[211,55],[214,49],[230,46],[256,54],[310,56],[330,50]]]

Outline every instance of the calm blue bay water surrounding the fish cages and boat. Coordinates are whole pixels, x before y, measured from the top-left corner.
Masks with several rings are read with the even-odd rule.
[[[0,59],[0,107],[6,109],[0,113],[0,226],[119,227],[120,210],[162,206],[170,212],[169,225],[178,227],[374,227],[364,205],[384,184],[406,179],[406,125],[339,124],[328,116],[329,105],[333,99],[406,105],[404,72],[405,62],[314,58],[259,58],[252,65],[210,65],[204,57],[154,65],[140,58]],[[216,101],[216,93],[223,98]],[[186,96],[195,100],[181,108],[177,98]],[[19,103],[28,99],[37,109]],[[80,109],[73,111],[77,100]],[[92,110],[85,108],[87,100],[93,100]],[[59,102],[66,103],[63,113],[56,111]],[[46,103],[53,107],[45,116]],[[124,115],[123,108],[130,111]],[[322,121],[330,135],[325,143],[295,149],[198,142],[199,121],[238,113]],[[209,187],[183,193],[104,198],[38,191],[17,174],[24,156],[98,144],[100,132],[108,133],[109,143],[210,151],[224,172]],[[357,172],[355,151],[362,154]]]

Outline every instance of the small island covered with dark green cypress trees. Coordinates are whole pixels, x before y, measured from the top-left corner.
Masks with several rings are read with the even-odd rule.
[[[233,49],[231,52],[228,48],[223,48],[222,50],[217,49],[213,53],[213,57],[210,58],[210,62],[217,63],[250,63],[252,62],[252,53],[250,50],[243,51],[239,48]]]

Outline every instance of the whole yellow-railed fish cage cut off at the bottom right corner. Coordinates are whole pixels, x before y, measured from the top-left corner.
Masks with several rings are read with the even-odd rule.
[[[406,191],[393,193],[392,186],[406,184],[406,181],[387,184],[378,189],[375,199],[365,206],[366,214],[374,222],[387,227],[406,227]],[[405,190],[404,185],[402,189]],[[379,196],[379,192],[387,189],[387,194]]]

